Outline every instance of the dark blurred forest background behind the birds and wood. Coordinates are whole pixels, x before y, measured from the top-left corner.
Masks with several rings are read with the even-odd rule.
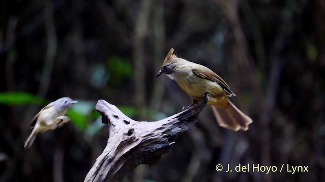
[[[158,163],[122,181],[325,181],[323,0],[2,0],[0,181],[83,181],[108,138],[99,99],[139,120],[189,105],[174,81],[154,79],[170,48],[227,81],[253,123],[221,128],[206,107]],[[61,97],[79,101],[71,122],[24,150],[31,118]],[[219,163],[309,172],[226,173]]]

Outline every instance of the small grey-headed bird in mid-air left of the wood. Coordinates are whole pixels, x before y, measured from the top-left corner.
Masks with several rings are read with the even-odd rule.
[[[74,101],[71,98],[63,97],[45,106],[34,116],[34,118],[32,118],[31,123],[35,123],[35,121],[36,123],[25,141],[24,148],[27,149],[32,145],[38,133],[56,129],[68,122],[70,118],[64,116],[64,114],[66,114],[68,109],[77,102],[78,101]]]

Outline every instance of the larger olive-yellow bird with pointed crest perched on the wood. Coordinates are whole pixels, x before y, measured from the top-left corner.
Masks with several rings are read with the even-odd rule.
[[[212,110],[218,124],[235,131],[247,130],[252,119],[241,112],[229,97],[236,96],[229,85],[211,69],[177,57],[172,48],[167,54],[156,78],[165,74],[191,97],[193,103],[210,94],[207,104]]]

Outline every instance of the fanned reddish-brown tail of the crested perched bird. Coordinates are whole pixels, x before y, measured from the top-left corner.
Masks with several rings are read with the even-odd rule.
[[[238,131],[246,131],[252,119],[241,112],[232,102],[229,101],[229,107],[221,109],[212,105],[215,118],[220,126]]]

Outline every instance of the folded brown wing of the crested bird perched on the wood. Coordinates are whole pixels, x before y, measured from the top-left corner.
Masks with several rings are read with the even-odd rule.
[[[195,68],[192,67],[192,71],[194,74],[200,76],[201,78],[217,82],[229,97],[236,96],[236,94],[230,89],[229,85],[211,69],[199,65]]]

